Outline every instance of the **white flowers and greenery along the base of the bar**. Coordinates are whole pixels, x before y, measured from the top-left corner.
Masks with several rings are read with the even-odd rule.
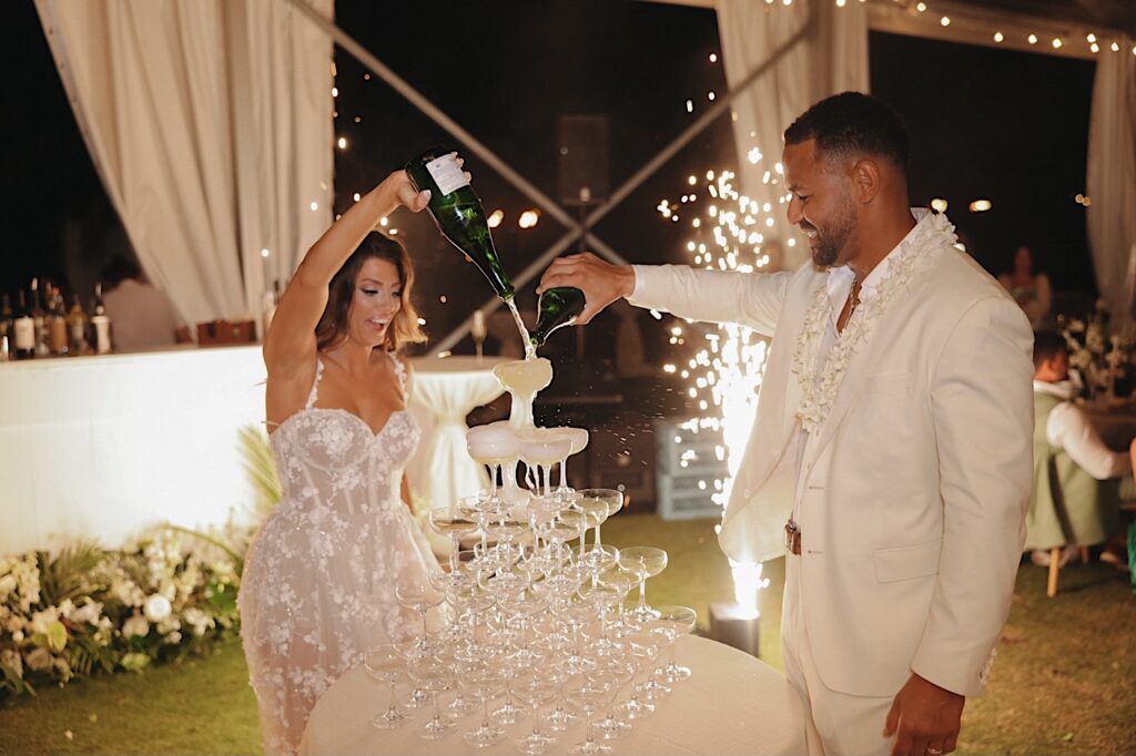
[[[241,445],[259,522],[279,482],[261,431],[242,431]],[[141,672],[234,636],[254,531],[164,524],[122,549],[78,543],[53,556],[0,556],[0,699],[98,672]]]

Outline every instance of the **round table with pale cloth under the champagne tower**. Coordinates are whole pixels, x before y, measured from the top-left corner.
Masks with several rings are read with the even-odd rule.
[[[676,657],[694,674],[657,702],[653,714],[636,723],[618,740],[607,741],[616,754],[785,754],[799,756],[805,746],[804,708],[799,694],[765,662],[729,646],[704,638],[678,640]],[[398,688],[406,695],[407,683]],[[452,700],[446,694],[443,704]],[[478,749],[462,740],[475,730],[481,711],[458,721],[440,740],[423,740],[416,732],[426,711],[415,709],[396,730],[376,730],[370,717],[385,711],[387,688],[373,680],[362,666],[340,678],[316,703],[300,746],[301,754],[517,754],[513,741],[532,731],[532,717],[504,728],[506,737],[491,748]],[[546,731],[546,730],[545,730]],[[557,734],[549,754],[567,754],[584,740],[577,723]]]

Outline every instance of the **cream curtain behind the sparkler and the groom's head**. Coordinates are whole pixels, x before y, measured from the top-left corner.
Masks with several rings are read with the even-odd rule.
[[[791,6],[752,0],[716,0],[722,62],[730,87],[763,65],[771,52],[808,27],[801,41],[734,100],[741,191],[759,207],[769,203],[774,225],[767,240],[793,237],[780,199],[776,170],[782,134],[810,104],[830,94],[868,91],[868,22],[861,3],[838,8],[832,0],[799,0]],[[757,148],[761,158],[753,162]],[[785,249],[786,267],[805,260],[803,245]]]

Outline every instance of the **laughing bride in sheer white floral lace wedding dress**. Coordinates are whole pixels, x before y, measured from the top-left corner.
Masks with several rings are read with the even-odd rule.
[[[308,251],[265,338],[284,496],[249,549],[240,610],[269,754],[294,753],[320,694],[408,622],[396,580],[437,568],[403,474],[419,435],[398,354],[424,341],[414,270],[370,230],[428,201],[399,170],[351,207]]]

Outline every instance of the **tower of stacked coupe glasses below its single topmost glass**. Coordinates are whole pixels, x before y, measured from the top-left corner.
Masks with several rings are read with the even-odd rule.
[[[583,724],[583,741],[568,753],[610,753],[605,741],[691,675],[674,646],[694,629],[695,612],[648,604],[646,580],[667,566],[665,551],[602,543],[601,526],[623,509],[620,492],[566,485],[565,464],[587,445],[586,430],[492,423],[467,442],[493,485],[431,512],[431,527],[453,548],[443,570],[395,586],[417,616],[367,655],[367,671],[387,687],[371,723],[412,722],[426,739],[490,747],[506,737],[503,725],[525,721],[527,734],[515,741],[525,754],[557,748],[565,730]],[[518,461],[528,490],[515,484]]]

